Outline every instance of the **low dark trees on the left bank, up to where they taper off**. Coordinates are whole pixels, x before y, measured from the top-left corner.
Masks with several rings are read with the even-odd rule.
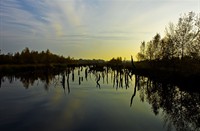
[[[46,51],[30,51],[28,47],[15,54],[0,54],[0,64],[65,64],[73,61],[70,57],[63,57]]]

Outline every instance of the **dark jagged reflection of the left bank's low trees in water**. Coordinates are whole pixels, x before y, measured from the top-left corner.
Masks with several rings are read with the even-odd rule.
[[[15,80],[19,80],[25,89],[29,89],[31,86],[36,84],[38,86],[39,82],[43,83],[43,87],[46,91],[49,90],[50,86],[60,86],[63,88],[64,93],[65,89],[67,88],[68,94],[70,93],[70,86],[69,86],[69,77],[72,74],[72,81],[74,81],[74,67],[67,67],[67,68],[44,68],[42,70],[33,70],[33,71],[23,71],[20,70],[19,72],[7,73],[1,75],[1,82],[5,81],[4,79],[7,78],[9,83],[13,83]],[[79,69],[79,81],[80,84],[83,81],[83,77],[80,76],[80,72],[82,69]],[[1,86],[0,82],[0,86]]]

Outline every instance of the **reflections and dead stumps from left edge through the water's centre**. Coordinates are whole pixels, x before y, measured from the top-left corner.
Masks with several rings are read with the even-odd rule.
[[[77,74],[75,74],[75,72]],[[110,74],[110,75],[109,75]],[[5,77],[6,76],[6,77]],[[9,83],[13,83],[16,80],[20,80],[23,83],[23,87],[28,89],[33,86],[34,83],[39,84],[39,82],[44,83],[44,89],[49,90],[49,87],[53,85],[54,87],[60,86],[63,88],[64,93],[66,88],[68,94],[70,93],[70,78],[71,82],[78,81],[81,85],[84,82],[84,78],[88,81],[88,76],[90,80],[95,78],[96,87],[101,88],[101,84],[109,84],[109,79],[113,82],[113,87],[116,89],[126,87],[129,88],[130,81],[132,79],[132,74],[127,69],[117,69],[112,70],[110,68],[98,69],[95,67],[69,67],[65,69],[44,69],[35,70],[30,72],[14,72],[13,74],[1,75],[1,83],[4,79],[8,79]],[[75,78],[78,80],[75,80]],[[111,78],[109,78],[111,77]]]

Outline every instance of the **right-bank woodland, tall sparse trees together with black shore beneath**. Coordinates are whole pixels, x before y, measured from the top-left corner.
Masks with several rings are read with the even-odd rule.
[[[177,24],[169,23],[165,36],[156,34],[141,42],[136,67],[159,77],[200,78],[200,17],[194,12],[182,15]],[[137,71],[136,71],[137,72]]]

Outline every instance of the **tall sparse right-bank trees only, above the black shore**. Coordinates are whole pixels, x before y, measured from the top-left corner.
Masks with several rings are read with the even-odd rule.
[[[183,14],[178,23],[169,23],[163,38],[157,33],[152,40],[141,42],[137,59],[200,60],[200,14]]]

